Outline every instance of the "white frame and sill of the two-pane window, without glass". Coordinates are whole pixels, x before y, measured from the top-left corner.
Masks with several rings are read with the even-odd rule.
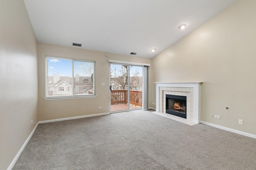
[[[72,95],[67,95],[67,96],[48,96],[48,58],[52,59],[63,59],[63,60],[71,60],[72,61]],[[75,92],[75,87],[74,87],[74,61],[81,61],[81,62],[88,62],[88,63],[93,63],[93,94],[85,94],[85,95],[76,95],[74,94]],[[85,59],[74,59],[74,58],[66,58],[66,57],[55,57],[55,56],[45,56],[45,98],[44,100],[63,100],[63,99],[78,99],[78,98],[96,98],[96,93],[95,93],[95,61],[93,60],[85,60]],[[65,88],[64,88],[65,91]]]

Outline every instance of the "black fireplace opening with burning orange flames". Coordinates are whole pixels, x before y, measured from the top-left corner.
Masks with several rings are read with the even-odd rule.
[[[187,118],[186,100],[186,96],[166,94],[166,113]]]

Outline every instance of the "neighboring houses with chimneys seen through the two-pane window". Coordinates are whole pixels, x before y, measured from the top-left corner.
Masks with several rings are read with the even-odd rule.
[[[48,76],[48,96],[72,95],[72,78],[69,76]],[[90,94],[93,91],[91,77],[79,76],[74,78],[74,94]]]

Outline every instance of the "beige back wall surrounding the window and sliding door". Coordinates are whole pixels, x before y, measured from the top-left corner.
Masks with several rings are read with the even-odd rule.
[[[106,57],[108,54],[108,57]],[[95,65],[95,92],[96,98],[70,99],[70,100],[48,100],[45,101],[45,55],[57,57],[70,57],[76,59],[88,59],[96,61]],[[137,63],[149,63],[151,59],[116,55],[98,51],[84,50],[74,47],[63,47],[38,43],[38,102],[39,120],[60,119],[82,115],[110,112],[109,106],[109,63],[108,59],[119,61],[130,61]],[[149,69],[149,74],[151,69]],[[105,86],[101,85],[105,82]],[[151,79],[150,79],[151,82]],[[149,87],[151,90],[151,86]],[[150,93],[151,94],[151,93]],[[149,96],[151,99],[151,96]],[[151,103],[151,100],[150,100]],[[98,109],[101,106],[102,109]]]

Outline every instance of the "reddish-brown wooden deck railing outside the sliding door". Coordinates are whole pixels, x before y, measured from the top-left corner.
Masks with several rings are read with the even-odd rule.
[[[128,90],[111,90],[111,104],[127,104]],[[130,90],[130,104],[142,107],[142,91]]]

